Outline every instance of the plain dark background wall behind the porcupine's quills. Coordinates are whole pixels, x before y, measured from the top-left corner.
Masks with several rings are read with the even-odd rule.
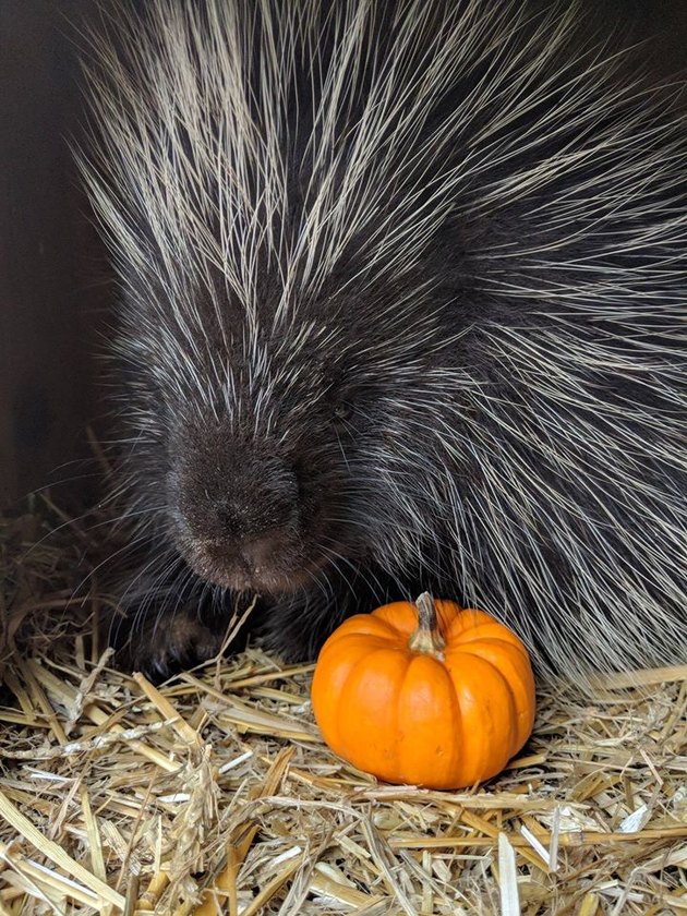
[[[97,23],[98,7],[0,0],[0,505],[69,480],[94,497],[81,459],[105,413],[94,354],[111,285],[65,138],[79,135],[81,106],[70,29]],[[628,40],[648,39],[659,76],[687,68],[687,0],[580,10],[602,32],[619,23]]]

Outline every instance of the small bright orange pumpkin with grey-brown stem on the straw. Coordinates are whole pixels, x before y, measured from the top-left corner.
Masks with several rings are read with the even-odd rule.
[[[507,627],[425,593],[345,620],[320,653],[312,703],[325,742],[360,770],[458,788],[528,739],[534,678]]]

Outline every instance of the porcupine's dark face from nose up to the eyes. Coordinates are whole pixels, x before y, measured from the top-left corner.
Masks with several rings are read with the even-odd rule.
[[[349,462],[370,431],[350,415],[339,334],[320,325],[313,337],[303,334],[294,348],[274,335],[250,353],[239,345],[212,409],[198,415],[189,395],[172,411],[165,444],[171,533],[204,579],[288,592],[350,553]]]

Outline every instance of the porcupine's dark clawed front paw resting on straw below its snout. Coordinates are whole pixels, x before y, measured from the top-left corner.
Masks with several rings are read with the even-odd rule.
[[[179,611],[134,630],[117,650],[114,661],[118,666],[140,671],[148,680],[160,684],[214,658],[221,648],[221,637],[194,612]]]

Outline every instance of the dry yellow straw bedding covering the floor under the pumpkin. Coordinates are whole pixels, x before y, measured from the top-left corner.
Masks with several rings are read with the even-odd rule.
[[[55,520],[0,521],[0,916],[687,914],[687,667],[542,689],[485,786],[383,785],[323,745],[310,666],[109,668],[96,532]]]

